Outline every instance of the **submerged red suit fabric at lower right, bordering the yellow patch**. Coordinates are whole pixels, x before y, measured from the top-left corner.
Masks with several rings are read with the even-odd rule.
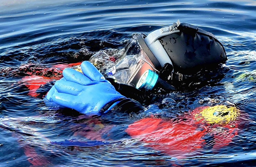
[[[232,142],[240,121],[237,119],[227,125],[218,125],[196,119],[195,113],[205,108],[196,108],[175,119],[143,118],[130,124],[125,132],[148,147],[179,158],[187,157],[188,153],[199,153],[206,144],[204,136],[209,134],[214,141],[208,145],[215,151]]]

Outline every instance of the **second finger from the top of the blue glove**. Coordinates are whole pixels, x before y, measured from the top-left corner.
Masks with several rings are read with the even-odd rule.
[[[92,85],[93,82],[84,76],[82,73],[71,69],[71,68],[65,68],[62,72],[62,75],[66,79],[66,81],[74,82],[80,85]]]

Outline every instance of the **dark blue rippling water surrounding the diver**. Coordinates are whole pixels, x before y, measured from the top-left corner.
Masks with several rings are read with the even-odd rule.
[[[255,166],[255,1],[0,0],[0,9],[0,166]],[[89,118],[50,108],[43,95],[55,80],[42,85],[39,96],[27,95],[29,89],[22,81],[29,74],[20,66],[29,64],[27,70],[32,72],[88,60],[86,49],[90,53],[122,49],[132,34],[147,34],[177,19],[217,36],[228,61],[201,76],[208,82],[156,97],[151,103],[159,104],[166,97],[177,101],[158,111],[163,117],[210,105],[207,100],[199,102],[204,98],[236,105],[246,117],[228,145],[213,151],[206,144],[192,156],[172,157],[124,132],[129,124],[148,117],[146,112]],[[87,145],[52,143],[74,138]],[[90,145],[90,141],[103,142]]]

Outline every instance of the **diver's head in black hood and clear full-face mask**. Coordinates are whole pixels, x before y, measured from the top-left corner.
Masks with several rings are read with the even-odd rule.
[[[122,57],[106,72],[141,90],[151,91],[157,84],[175,89],[174,81],[185,81],[193,72],[226,60],[225,49],[213,34],[178,20],[147,36],[133,36]]]

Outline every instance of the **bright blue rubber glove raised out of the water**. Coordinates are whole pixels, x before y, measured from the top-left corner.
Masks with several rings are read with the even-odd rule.
[[[82,62],[81,69],[83,74],[71,68],[64,69],[64,78],[55,82],[46,99],[81,113],[98,114],[109,102],[125,98],[90,62]]]

